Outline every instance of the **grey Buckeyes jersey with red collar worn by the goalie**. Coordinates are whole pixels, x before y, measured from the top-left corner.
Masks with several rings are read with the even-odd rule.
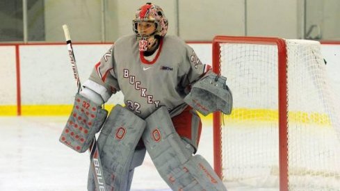
[[[166,106],[173,117],[186,108],[183,99],[188,85],[207,72],[195,52],[183,40],[166,35],[154,60],[138,51],[135,35],[118,39],[95,65],[90,80],[114,94],[122,91],[124,103],[145,118]]]

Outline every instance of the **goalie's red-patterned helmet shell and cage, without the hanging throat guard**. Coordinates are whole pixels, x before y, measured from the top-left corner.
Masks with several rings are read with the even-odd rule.
[[[156,24],[156,30],[151,35],[142,36],[137,30],[138,22],[154,22],[154,24]],[[148,38],[152,35],[163,37],[168,31],[168,19],[165,18],[162,8],[152,3],[146,3],[138,8],[132,24],[133,31],[136,33],[138,40],[141,38]]]

